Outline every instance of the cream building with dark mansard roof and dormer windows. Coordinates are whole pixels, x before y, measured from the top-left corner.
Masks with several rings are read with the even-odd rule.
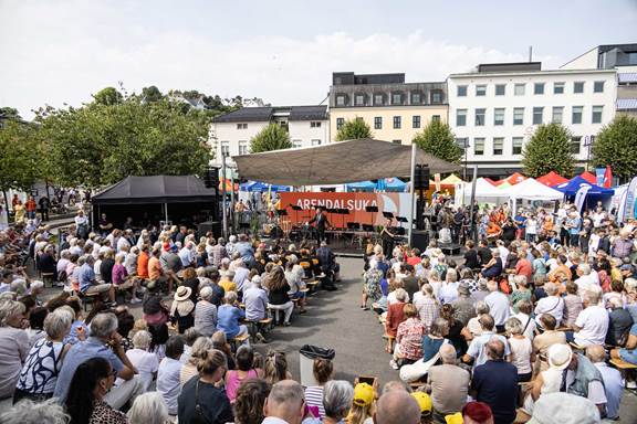
[[[341,126],[363,119],[374,138],[410,145],[416,132],[431,120],[447,121],[445,83],[405,83],[405,74],[332,74],[330,87],[330,137]]]

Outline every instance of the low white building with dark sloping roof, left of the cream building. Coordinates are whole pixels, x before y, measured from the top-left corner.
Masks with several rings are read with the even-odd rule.
[[[209,140],[216,161],[221,155],[248,155],[250,139],[271,123],[288,130],[294,147],[330,141],[327,106],[243,107],[212,119]]]

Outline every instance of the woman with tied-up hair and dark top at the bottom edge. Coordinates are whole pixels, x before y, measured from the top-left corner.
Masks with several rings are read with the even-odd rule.
[[[198,375],[184,385],[177,401],[180,423],[224,424],[234,421],[226,392],[217,386],[227,367],[226,354],[220,350],[202,352],[197,363]]]

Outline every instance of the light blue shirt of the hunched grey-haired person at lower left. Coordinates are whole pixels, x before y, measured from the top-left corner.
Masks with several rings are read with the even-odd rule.
[[[66,352],[64,362],[62,363],[62,369],[58,375],[53,398],[58,398],[60,403],[64,403],[69,395],[71,380],[73,380],[77,367],[87,360],[97,357],[104,358],[111,362],[111,367],[113,367],[113,370],[117,371],[117,373],[124,369],[124,364],[109,347],[107,347],[102,340],[90,337],[84,341],[73,344],[69,352]]]

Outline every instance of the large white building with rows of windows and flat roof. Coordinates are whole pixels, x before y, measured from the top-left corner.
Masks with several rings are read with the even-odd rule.
[[[521,169],[522,149],[536,126],[561,123],[573,135],[578,165],[588,140],[615,117],[615,70],[541,71],[541,63],[479,65],[447,80],[449,124],[467,144],[463,161],[479,174],[503,177]]]

